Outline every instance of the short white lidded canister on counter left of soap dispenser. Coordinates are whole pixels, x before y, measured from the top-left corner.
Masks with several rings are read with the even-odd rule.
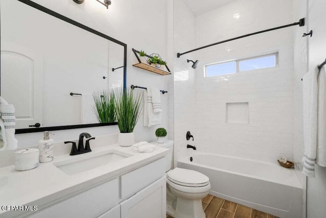
[[[15,152],[15,169],[16,171],[27,171],[39,166],[38,149],[23,149]]]

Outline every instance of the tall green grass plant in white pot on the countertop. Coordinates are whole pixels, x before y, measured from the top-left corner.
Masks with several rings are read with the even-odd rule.
[[[122,88],[115,93],[120,146],[128,147],[134,143],[133,129],[143,111],[143,98],[143,93],[136,90]]]

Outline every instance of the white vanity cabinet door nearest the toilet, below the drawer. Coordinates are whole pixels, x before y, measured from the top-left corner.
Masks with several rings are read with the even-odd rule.
[[[121,218],[165,218],[166,177],[162,177],[120,203]]]

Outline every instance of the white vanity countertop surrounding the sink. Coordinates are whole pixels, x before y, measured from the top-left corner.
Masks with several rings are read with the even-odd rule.
[[[59,161],[87,157],[109,150],[121,151],[131,156],[71,176],[53,165]],[[16,171],[14,165],[3,167],[0,168],[0,206],[37,205],[40,207],[164,157],[167,152],[168,149],[156,147],[151,153],[136,153],[132,152],[132,147],[120,147],[114,144],[92,149],[92,152],[86,154],[55,156],[53,161],[40,163],[39,167],[29,171]],[[4,212],[0,209],[0,216]]]

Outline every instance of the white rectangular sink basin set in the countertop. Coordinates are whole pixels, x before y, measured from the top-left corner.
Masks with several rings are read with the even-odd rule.
[[[79,156],[79,155],[78,155]],[[131,154],[110,150],[101,153],[82,154],[74,159],[64,160],[53,163],[61,171],[68,175],[75,175],[108,163],[117,162],[125,158],[131,157]]]

